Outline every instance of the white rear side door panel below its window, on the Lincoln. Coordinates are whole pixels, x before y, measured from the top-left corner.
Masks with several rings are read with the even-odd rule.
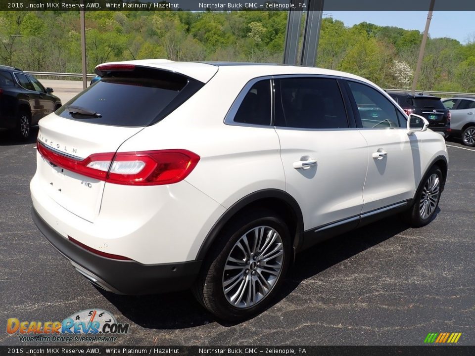
[[[276,131],[281,142],[285,190],[300,205],[306,230],[361,213],[368,147],[358,130]],[[293,167],[294,162],[306,159],[316,160],[317,165]],[[338,193],[329,187],[335,187]]]

